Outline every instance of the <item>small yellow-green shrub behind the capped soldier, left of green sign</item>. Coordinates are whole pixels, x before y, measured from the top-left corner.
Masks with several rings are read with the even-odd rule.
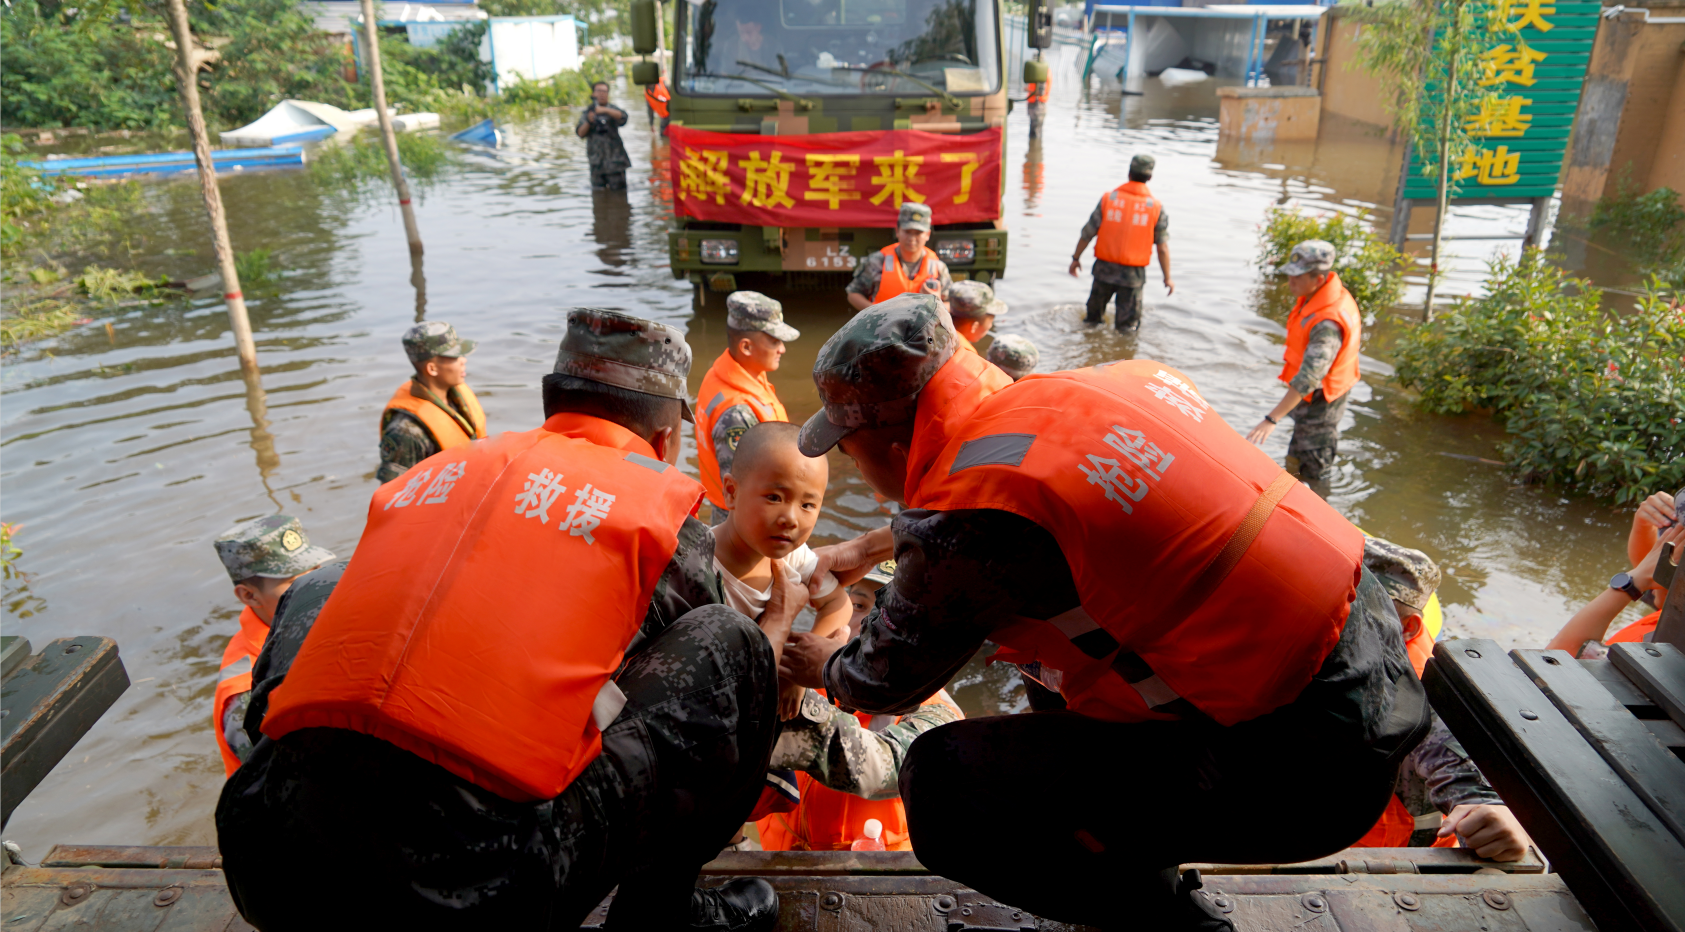
[[[1368,214],[1304,214],[1287,207],[1270,207],[1259,229],[1259,266],[1265,275],[1287,261],[1292,248],[1306,239],[1326,239],[1335,246],[1335,271],[1358,302],[1373,313],[1404,297],[1404,256],[1375,231]]]

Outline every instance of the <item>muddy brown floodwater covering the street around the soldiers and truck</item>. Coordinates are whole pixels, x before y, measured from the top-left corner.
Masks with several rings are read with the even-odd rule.
[[[1237,430],[1281,398],[1281,313],[1265,295],[1257,226],[1274,204],[1358,211],[1390,204],[1397,153],[1356,128],[1326,126],[1319,145],[1218,150],[1213,83],[1144,98],[1078,96],[1067,59],[1055,69],[1045,138],[1009,120],[1004,219],[1011,229],[1001,332],[1041,349],[1041,369],[1151,357],[1188,372]],[[620,88],[617,101],[635,99]],[[642,116],[627,126],[632,190],[588,187],[573,115],[507,126],[495,155],[463,155],[418,194],[425,315],[479,340],[468,379],[490,428],[541,421],[549,371],[575,305],[620,308],[686,329],[691,388],[725,344],[718,295],[696,312],[667,271],[666,148]],[[1085,327],[1087,275],[1065,266],[1099,196],[1124,180],[1134,152],[1158,157],[1153,190],[1169,212],[1176,293],[1149,275],[1139,334]],[[130,307],[3,367],[3,517],[22,524],[7,581],[7,634],[39,651],[54,637],[116,639],[133,686],[24,802],[7,838],[35,860],[52,843],[214,844],[222,765],[211,696],[238,602],[211,541],[285,511],[313,543],[349,554],[374,490],[377,421],[409,366],[399,335],[418,317],[393,197],[327,192],[305,172],[226,175],[236,249],[265,248],[281,270],[248,288],[263,384],[239,378],[219,297]],[[106,265],[172,278],[212,268],[192,177],[148,182],[152,212]],[[1520,231],[1525,214],[1469,211],[1454,231]],[[940,219],[940,217],[939,217]],[[1382,222],[1385,217],[1382,217]],[[1490,243],[1464,243],[1449,292],[1478,287]],[[1511,249],[1515,244],[1510,246]],[[1419,293],[1419,290],[1412,292]],[[848,319],[841,290],[778,295],[804,332],[772,379],[794,420],[817,410],[814,354]],[[1284,308],[1282,308],[1284,310]],[[1367,308],[1372,310],[1372,308]],[[1479,418],[1415,411],[1385,378],[1402,324],[1382,310],[1355,389],[1329,499],[1367,531],[1426,549],[1446,581],[1446,630],[1540,645],[1572,610],[1626,568],[1629,512],[1511,487],[1495,457],[1501,431]],[[1287,430],[1267,452],[1286,453]],[[1447,457],[1441,453],[1454,453]],[[694,470],[694,447],[686,453]],[[814,543],[888,521],[841,453]],[[1636,615],[1633,615],[1636,617]],[[981,661],[955,681],[969,715],[1023,706],[1016,672]]]

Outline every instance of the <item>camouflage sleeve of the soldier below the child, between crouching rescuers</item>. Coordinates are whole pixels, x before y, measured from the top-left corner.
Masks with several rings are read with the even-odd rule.
[[[949,706],[930,703],[883,730],[863,728],[854,713],[809,689],[802,713],[784,723],[772,769],[805,770],[822,785],[863,799],[893,799],[913,738],[957,718]]]

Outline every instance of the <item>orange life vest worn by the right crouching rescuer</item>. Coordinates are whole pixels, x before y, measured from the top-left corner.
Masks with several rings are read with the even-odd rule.
[[[1072,711],[1233,725],[1297,698],[1340,640],[1361,531],[1174,369],[1026,376],[971,416],[930,415],[920,399],[907,504],[1019,514],[1070,563],[1078,608],[989,637],[1001,661],[1060,671]]]

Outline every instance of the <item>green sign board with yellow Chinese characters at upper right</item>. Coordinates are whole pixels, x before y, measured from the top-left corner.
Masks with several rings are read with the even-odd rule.
[[[1550,0],[1490,5],[1488,22],[1503,22],[1515,32],[1500,30],[1496,44],[1481,56],[1476,91],[1491,98],[1464,120],[1473,147],[1451,158],[1458,201],[1555,194],[1601,10],[1601,3]],[[1434,199],[1437,182],[1422,175],[1414,150],[1409,172],[1404,197]]]

